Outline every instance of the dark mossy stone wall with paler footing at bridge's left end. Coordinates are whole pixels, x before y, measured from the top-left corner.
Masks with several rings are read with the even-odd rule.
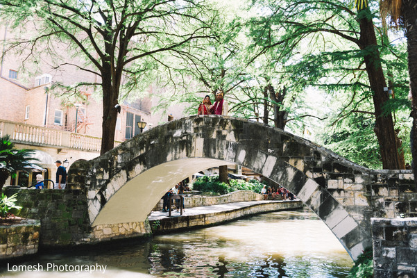
[[[151,233],[147,221],[90,227],[83,190],[5,188],[8,196],[15,193],[17,205],[22,206],[17,215],[40,220],[40,245],[78,245]]]

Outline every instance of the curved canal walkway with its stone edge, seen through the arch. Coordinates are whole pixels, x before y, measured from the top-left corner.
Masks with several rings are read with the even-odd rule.
[[[167,213],[151,213],[148,217],[153,234],[162,234],[168,231],[181,229],[207,227],[231,220],[236,220],[247,215],[266,213],[271,211],[284,211],[302,208],[301,201],[253,201],[216,206],[201,206],[198,208],[186,208],[187,214],[167,216]]]

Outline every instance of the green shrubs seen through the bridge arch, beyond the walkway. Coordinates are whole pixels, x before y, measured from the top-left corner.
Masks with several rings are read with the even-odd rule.
[[[193,190],[198,190],[203,193],[213,193],[224,195],[236,190],[249,190],[255,193],[261,193],[264,183],[260,183],[255,179],[250,181],[243,181],[241,179],[229,179],[230,186],[227,183],[219,181],[219,176],[200,177],[193,183]]]

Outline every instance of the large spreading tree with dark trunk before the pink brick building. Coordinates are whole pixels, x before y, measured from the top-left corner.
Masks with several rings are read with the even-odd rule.
[[[56,44],[69,44],[69,54],[79,63],[60,58],[57,68],[73,65],[92,74],[90,81],[72,84],[68,91],[83,86],[101,89],[103,136],[101,153],[112,149],[116,109],[121,97],[148,85],[156,65],[164,65],[159,54],[187,49],[189,44],[212,36],[215,11],[202,1],[76,1],[1,0],[1,19],[12,27],[33,24],[31,38],[19,38],[12,48],[40,49],[57,54]],[[66,54],[68,55],[68,54]]]

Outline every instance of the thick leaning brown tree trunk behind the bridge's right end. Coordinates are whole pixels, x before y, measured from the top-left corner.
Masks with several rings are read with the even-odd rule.
[[[370,10],[368,8],[361,10],[358,13],[358,19],[361,28],[359,47],[365,51],[366,72],[373,91],[374,131],[380,145],[382,166],[384,169],[405,169],[405,165],[400,165],[392,115],[384,113],[382,110],[386,101],[389,100],[389,95],[387,91],[384,91],[386,81],[382,71],[380,51],[377,49],[377,39]]]

